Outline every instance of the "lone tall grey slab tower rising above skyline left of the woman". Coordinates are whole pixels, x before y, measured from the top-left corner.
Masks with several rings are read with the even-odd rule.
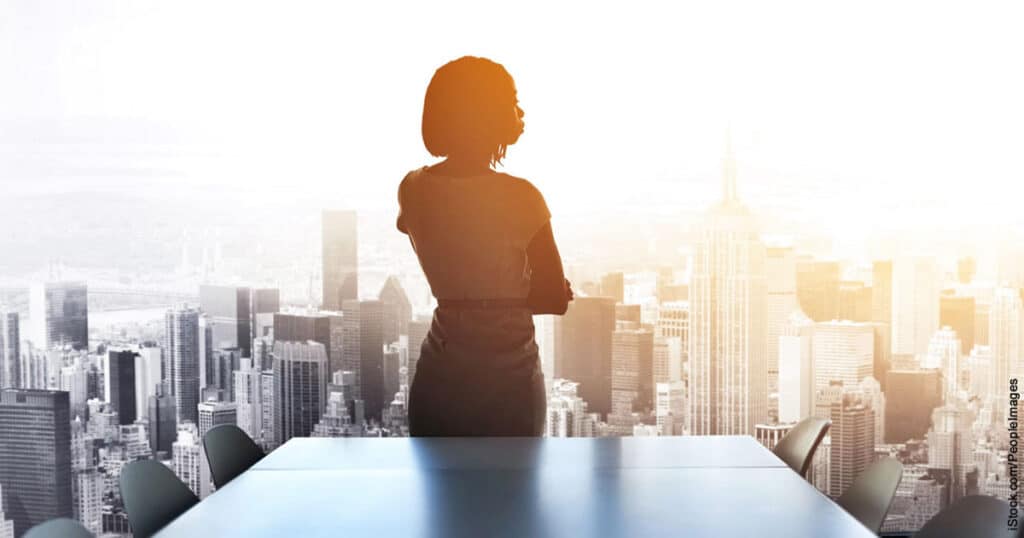
[[[325,210],[323,227],[324,309],[340,311],[358,300],[358,233],[355,211]]]

